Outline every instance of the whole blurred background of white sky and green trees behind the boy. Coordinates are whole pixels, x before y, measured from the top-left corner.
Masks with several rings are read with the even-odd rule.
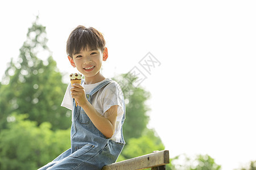
[[[255,1],[1,1],[0,169],[36,169],[70,147],[60,104],[77,72],[77,25],[104,34],[121,84],[118,161],[170,150],[168,169],[253,169]],[[137,75],[138,78],[134,78]]]

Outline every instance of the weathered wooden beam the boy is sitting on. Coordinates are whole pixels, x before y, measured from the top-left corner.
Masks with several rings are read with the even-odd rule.
[[[166,169],[166,164],[170,163],[169,151],[154,151],[152,154],[139,156],[137,158],[123,160],[121,162],[106,165],[102,170],[132,170],[132,169],[146,169],[154,170]]]

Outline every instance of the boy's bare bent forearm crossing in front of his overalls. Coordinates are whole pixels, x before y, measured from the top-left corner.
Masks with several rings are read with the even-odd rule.
[[[93,125],[96,126],[96,128],[100,130],[106,138],[112,137],[115,128],[114,125],[112,125],[112,123],[108,120],[108,118],[105,118],[100,113],[98,113],[89,102],[86,102],[84,105],[82,105],[82,109],[84,109],[87,116],[93,122]]]

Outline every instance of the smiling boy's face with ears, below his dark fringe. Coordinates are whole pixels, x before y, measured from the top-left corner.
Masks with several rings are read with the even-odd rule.
[[[73,54],[73,58],[68,56],[69,61],[73,67],[82,73],[85,77],[97,76],[100,73],[102,61],[108,58],[108,49],[104,52],[100,49],[81,49],[79,53]]]

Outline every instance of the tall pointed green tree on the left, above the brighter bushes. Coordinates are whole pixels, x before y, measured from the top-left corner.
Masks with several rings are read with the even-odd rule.
[[[67,84],[51,56],[46,61],[39,54],[50,55],[46,45],[46,27],[38,18],[28,29],[27,40],[20,48],[18,61],[11,59],[0,83],[0,129],[7,126],[11,113],[27,113],[28,119],[42,124],[49,121],[53,129],[71,125],[70,111],[60,107]]]

